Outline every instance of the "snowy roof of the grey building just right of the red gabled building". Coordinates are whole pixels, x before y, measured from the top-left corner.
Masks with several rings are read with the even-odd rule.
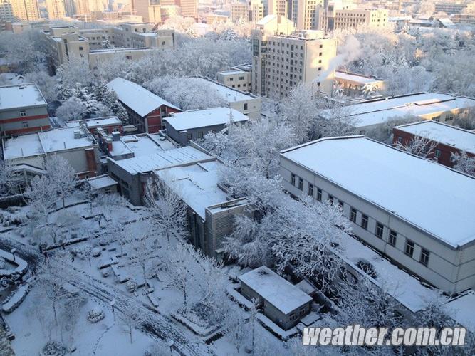
[[[208,127],[215,125],[226,125],[232,115],[234,122],[244,122],[249,117],[243,113],[229,108],[211,108],[205,110],[190,110],[173,114],[165,120],[177,131],[195,129],[197,127]]]

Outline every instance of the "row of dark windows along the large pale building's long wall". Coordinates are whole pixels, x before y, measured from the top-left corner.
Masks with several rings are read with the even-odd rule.
[[[298,177],[296,176],[296,174],[291,173],[291,184],[303,192],[303,178]],[[316,192],[316,196],[314,195],[315,192]],[[320,202],[322,201],[323,190],[318,187],[315,187],[310,182],[307,183],[307,194],[310,197],[315,198],[317,201],[320,201]],[[341,211],[343,211],[343,206],[345,203],[341,201],[340,199],[336,199],[336,200],[338,200],[338,206],[340,206]],[[335,197],[327,193],[327,201],[333,205],[335,203]],[[362,211],[360,211],[361,219],[358,222],[357,212],[358,212],[357,209],[353,208],[353,206],[350,206],[350,216],[349,216],[350,221],[352,221],[354,224],[359,225],[362,229],[368,230],[368,223],[370,221],[370,217],[367,214],[363,214]],[[385,229],[389,229],[389,228],[385,226],[384,224],[381,224],[379,221],[376,221],[375,231],[374,231],[375,236],[378,239],[383,239]],[[389,237],[387,239],[387,243],[390,244],[392,247],[396,248],[396,242],[398,238],[397,231],[394,231],[392,229],[389,229],[389,230],[390,231],[389,231]],[[411,241],[406,238],[406,243],[404,245],[404,253],[407,256],[414,258],[414,241]],[[429,264],[429,256],[430,256],[429,250],[427,250],[426,248],[421,248],[419,263],[422,263],[424,266],[427,267],[427,265]]]

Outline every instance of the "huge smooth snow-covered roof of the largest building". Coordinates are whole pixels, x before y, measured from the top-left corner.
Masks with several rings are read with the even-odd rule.
[[[475,239],[474,178],[362,136],[320,139],[281,155],[450,246]]]

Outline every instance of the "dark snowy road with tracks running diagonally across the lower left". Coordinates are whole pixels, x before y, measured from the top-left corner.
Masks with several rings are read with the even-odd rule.
[[[36,266],[43,257],[36,248],[10,239],[0,239],[0,248],[6,251],[16,248],[16,253],[28,262],[28,266]],[[209,350],[202,339],[191,331],[180,330],[167,316],[153,312],[145,303],[135,299],[125,291],[93,278],[84,271],[71,266],[71,264],[65,262],[64,265],[61,271],[64,271],[66,281],[91,297],[102,301],[105,305],[110,305],[110,302],[115,300],[115,309],[119,312],[125,310],[128,313],[133,310],[134,314],[141,320],[140,329],[142,331],[165,342],[173,341],[173,348],[179,355],[212,355],[213,352]]]

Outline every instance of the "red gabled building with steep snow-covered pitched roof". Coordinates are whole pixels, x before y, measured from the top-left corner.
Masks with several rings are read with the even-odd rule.
[[[177,106],[129,80],[115,78],[108,83],[108,88],[115,91],[127,110],[130,125],[135,125],[138,132],[159,132],[165,128],[163,117],[182,112]]]

